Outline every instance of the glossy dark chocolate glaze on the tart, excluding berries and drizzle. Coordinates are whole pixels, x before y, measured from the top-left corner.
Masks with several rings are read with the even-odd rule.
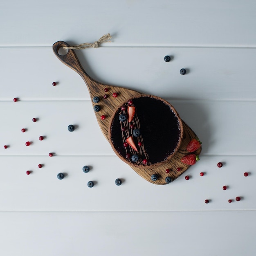
[[[148,164],[163,162],[174,153],[180,141],[180,124],[177,115],[164,101],[154,97],[143,96],[132,101],[136,108],[136,119],[139,120],[141,138],[132,137],[137,148],[139,148],[138,141],[143,141],[146,152],[140,155],[141,159],[148,158]],[[134,150],[123,145],[126,138],[121,129],[123,124],[119,121],[120,113],[122,113],[121,108],[116,112],[111,124],[111,141],[119,155],[126,159],[126,154],[132,155]]]

